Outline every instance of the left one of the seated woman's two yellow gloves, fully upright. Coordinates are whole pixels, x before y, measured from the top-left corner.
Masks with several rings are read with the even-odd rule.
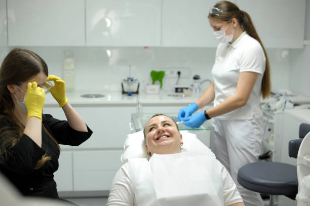
[[[40,118],[42,121],[42,109],[45,101],[45,91],[37,87],[35,81],[28,83],[25,105],[27,107],[27,119],[30,116]]]

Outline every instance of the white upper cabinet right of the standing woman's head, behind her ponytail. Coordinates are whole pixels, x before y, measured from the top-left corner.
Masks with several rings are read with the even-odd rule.
[[[236,0],[266,48],[303,48],[305,0]]]

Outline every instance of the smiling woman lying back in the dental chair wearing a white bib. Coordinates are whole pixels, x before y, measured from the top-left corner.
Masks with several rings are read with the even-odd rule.
[[[191,136],[185,141],[190,133],[180,133],[172,118],[153,115],[143,134],[143,155],[149,160],[125,159],[128,161],[115,175],[106,205],[244,206],[234,181],[211,150],[205,146],[202,150],[201,145],[186,147],[191,140],[198,140]]]

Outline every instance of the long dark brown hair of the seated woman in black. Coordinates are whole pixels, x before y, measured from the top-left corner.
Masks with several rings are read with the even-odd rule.
[[[43,71],[47,76],[49,74],[48,66],[45,61],[26,49],[13,49],[5,57],[0,68],[0,118],[9,122],[10,126],[0,128],[0,162],[4,161],[7,155],[7,149],[13,147],[21,138],[24,132],[24,126],[14,115],[14,102],[8,85],[20,86],[21,83],[33,78],[35,75]],[[46,130],[42,123],[42,128],[48,136],[57,144],[59,144]],[[43,164],[51,159],[44,154],[37,161],[35,169],[43,166]]]

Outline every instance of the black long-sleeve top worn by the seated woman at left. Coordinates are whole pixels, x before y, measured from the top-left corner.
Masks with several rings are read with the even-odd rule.
[[[67,121],[55,119],[50,114],[42,115],[42,122],[48,132],[59,144],[78,146],[93,133],[72,129]],[[0,127],[14,127],[15,123],[6,117],[0,118]],[[4,135],[0,134],[0,144]],[[12,145],[12,144],[11,144]],[[0,162],[0,171],[23,193],[30,196],[58,198],[54,172],[58,169],[60,151],[57,144],[42,128],[42,147],[23,134],[13,146],[7,146],[7,155]],[[39,169],[34,169],[37,161],[46,153],[51,159]]]

